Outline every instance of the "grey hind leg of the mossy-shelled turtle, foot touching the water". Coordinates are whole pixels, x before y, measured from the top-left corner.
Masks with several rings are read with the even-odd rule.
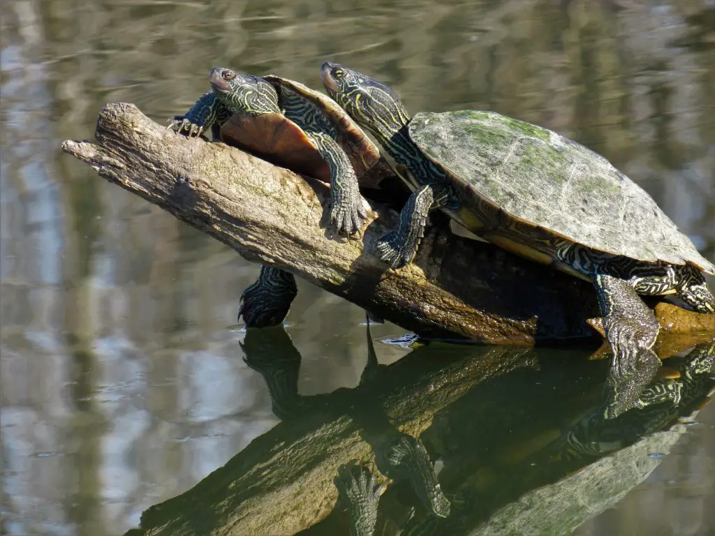
[[[633,374],[643,355],[650,357],[660,324],[631,283],[603,273],[593,276],[603,329],[613,349],[613,374]]]

